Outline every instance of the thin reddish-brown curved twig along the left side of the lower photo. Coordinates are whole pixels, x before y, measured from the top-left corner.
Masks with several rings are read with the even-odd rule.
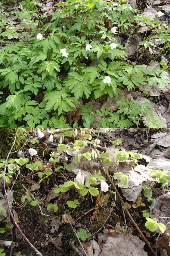
[[[22,237],[25,239],[25,241],[30,245],[30,247],[36,252],[37,255],[39,256],[43,256],[33,245],[31,242],[29,242],[29,240],[26,238],[26,236],[24,235],[24,233],[20,230],[17,222],[15,221],[15,218],[14,218],[14,215],[13,213],[11,212],[11,207],[10,207],[10,204],[9,204],[9,198],[8,198],[8,194],[7,194],[7,191],[6,191],[6,188],[5,188],[5,174],[6,174],[6,168],[7,168],[7,160],[8,160],[8,157],[14,147],[14,144],[15,144],[15,140],[16,140],[16,137],[17,137],[17,133],[18,133],[18,129],[17,129],[17,132],[15,134],[15,138],[14,138],[14,142],[11,146],[11,149],[10,151],[8,152],[8,155],[7,155],[7,158],[6,158],[6,161],[5,161],[5,167],[4,167],[4,193],[5,193],[5,196],[6,196],[6,200],[7,200],[7,206],[8,206],[8,210],[9,210],[9,213],[11,215],[11,218],[15,224],[15,226],[17,227],[18,231],[20,232],[20,234],[22,235]]]

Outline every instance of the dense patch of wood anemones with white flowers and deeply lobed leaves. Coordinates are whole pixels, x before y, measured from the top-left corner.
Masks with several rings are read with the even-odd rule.
[[[138,16],[128,3],[69,0],[55,5],[60,11],[41,17],[40,3],[21,4],[26,11],[12,14],[21,20],[26,18],[21,24],[25,34],[18,33],[17,27],[5,29],[6,24],[1,24],[0,93],[4,95],[0,126],[78,128],[77,122],[68,124],[65,117],[81,99],[85,103],[103,95],[117,98],[122,87],[130,91],[147,82],[150,86],[167,84],[167,73],[162,68],[151,72],[126,61],[125,47],[115,37],[132,28],[136,33],[138,22],[156,28],[154,37],[163,40],[164,50],[170,40],[166,27]],[[34,36],[29,37],[27,31]],[[150,39],[145,37],[142,46],[154,49]],[[83,126],[92,126],[94,115],[101,117],[99,127],[139,126],[141,116],[147,114],[147,126],[157,128],[162,122],[153,116],[153,105],[121,99],[117,111],[91,108],[90,113],[83,106]]]

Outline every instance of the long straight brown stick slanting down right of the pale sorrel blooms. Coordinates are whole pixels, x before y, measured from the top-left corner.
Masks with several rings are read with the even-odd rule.
[[[94,146],[93,143],[91,143],[91,147],[92,147],[92,149],[95,149],[95,146]],[[104,168],[103,162],[102,162],[102,159],[101,159],[99,153],[98,153],[97,151],[96,151],[96,153],[97,153],[97,157],[98,157],[98,159],[99,159],[100,165],[102,166],[102,168]],[[104,169],[104,170],[105,170],[105,169]],[[124,203],[124,201],[123,201],[123,198],[122,198],[121,195],[119,194],[119,191],[117,190],[115,184],[113,183],[112,179],[110,178],[108,171],[105,170],[105,173],[106,173],[106,176],[107,176],[107,180],[112,184],[114,190],[116,191],[116,194],[117,194],[118,197],[119,197],[119,200],[121,201],[122,205],[124,205],[125,203]],[[149,241],[147,240],[147,238],[143,235],[141,229],[138,227],[138,225],[136,224],[136,222],[134,221],[134,219],[133,219],[132,216],[130,215],[128,209],[125,209],[125,212],[127,213],[129,219],[130,219],[131,222],[134,224],[135,228],[138,230],[139,234],[140,234],[141,237],[144,239],[145,243],[146,243],[147,246],[150,248],[150,250],[152,251],[152,253],[153,253],[155,256],[158,256],[158,255],[156,254],[156,252],[153,250],[153,248],[151,247],[150,242],[149,242]]]

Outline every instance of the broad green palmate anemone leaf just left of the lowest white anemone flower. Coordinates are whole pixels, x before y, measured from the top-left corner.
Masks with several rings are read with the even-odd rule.
[[[84,76],[79,75],[76,72],[68,73],[66,87],[68,87],[69,90],[71,90],[71,92],[74,94],[75,100],[78,100],[83,96],[83,94],[85,94],[85,97],[88,99],[92,90],[91,85],[88,84]]]

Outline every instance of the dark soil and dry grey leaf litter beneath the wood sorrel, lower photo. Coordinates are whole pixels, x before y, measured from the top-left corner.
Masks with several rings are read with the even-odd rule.
[[[12,214],[20,230],[44,256],[85,255],[82,247],[88,256],[169,255],[170,191],[168,184],[165,185],[158,178],[150,178],[150,172],[156,169],[164,174],[169,173],[170,130],[100,129],[100,141],[96,148],[99,155],[94,162],[92,149],[96,146],[94,140],[97,139],[98,130],[78,129],[76,132],[77,134],[75,129],[46,129],[43,131],[44,136],[40,138],[35,129],[23,132],[19,130],[20,145],[14,152],[12,150],[7,162],[6,175],[8,174],[10,181],[6,184],[6,190]],[[84,149],[76,146],[80,143],[84,143]],[[67,147],[64,149],[63,145]],[[30,148],[36,150],[37,154],[30,156]],[[124,160],[116,157],[116,152],[121,151],[129,154],[126,157],[124,155]],[[77,160],[80,154],[87,155],[90,152],[90,161],[84,156]],[[133,154],[140,154],[140,159]],[[29,165],[23,164],[24,162],[23,165],[20,165],[21,162],[18,164],[16,158],[22,158]],[[32,164],[37,162],[41,164],[34,169]],[[14,173],[9,169],[10,163],[15,164]],[[4,164],[1,159],[2,170]],[[62,189],[65,182],[74,181],[79,170],[85,176],[84,188],[88,187],[90,175],[97,177],[95,175],[101,171],[110,186],[109,190],[101,191],[101,181],[97,181],[97,196],[89,192],[82,196],[81,190],[74,185],[65,187],[65,192],[56,191],[56,188]],[[122,178],[116,178],[116,173],[126,175],[128,183],[123,184]],[[42,177],[44,178],[41,179]],[[3,178],[0,179],[0,191],[2,231],[11,219],[4,198]],[[148,201],[148,198],[152,199]],[[77,201],[74,203],[74,200]],[[72,205],[66,203],[68,201],[72,201]],[[32,202],[36,202],[36,205],[31,205]],[[164,234],[159,233],[159,229],[154,232],[147,229],[143,210],[150,213],[151,219],[156,218],[165,225]],[[129,219],[128,213],[132,219]],[[150,243],[150,248],[134,222]],[[9,226],[4,230],[0,234],[0,243],[1,239],[13,242],[12,250],[5,248],[6,256],[36,255],[15,226],[11,230]],[[76,233],[80,237],[80,243]]]

